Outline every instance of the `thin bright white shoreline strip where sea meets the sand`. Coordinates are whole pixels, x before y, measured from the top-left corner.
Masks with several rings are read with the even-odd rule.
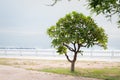
[[[40,60],[67,60],[66,57],[32,57],[32,56],[0,56],[0,58],[15,58],[15,59],[40,59]],[[120,62],[120,58],[78,58],[77,61],[105,61],[105,62]]]

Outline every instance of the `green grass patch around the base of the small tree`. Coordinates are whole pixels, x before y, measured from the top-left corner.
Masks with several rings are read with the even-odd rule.
[[[70,72],[65,68],[47,68],[39,71],[51,72],[64,75],[82,76],[89,78],[98,78],[104,80],[120,80],[120,68],[103,68],[103,69],[76,69],[75,72]]]

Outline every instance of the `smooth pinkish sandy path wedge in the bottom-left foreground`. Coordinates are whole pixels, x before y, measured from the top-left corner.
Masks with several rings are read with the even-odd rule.
[[[100,79],[37,72],[25,70],[22,68],[0,65],[0,80],[100,80]]]

